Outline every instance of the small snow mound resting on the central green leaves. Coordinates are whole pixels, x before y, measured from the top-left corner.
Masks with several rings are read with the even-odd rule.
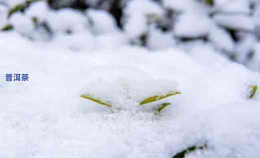
[[[102,72],[102,75],[105,76],[104,79],[100,78],[88,84],[82,90],[82,94],[106,101],[112,106],[131,108],[129,106],[138,106],[142,100],[148,97],[178,91],[175,81],[152,79],[151,76],[137,70],[131,67],[108,69],[107,72]]]

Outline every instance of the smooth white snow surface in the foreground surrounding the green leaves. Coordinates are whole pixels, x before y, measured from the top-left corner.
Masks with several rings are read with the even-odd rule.
[[[172,158],[202,143],[207,150],[187,157],[260,157],[260,93],[247,97],[260,74],[210,45],[75,51],[15,32],[0,36],[2,158]],[[28,73],[29,81],[6,82],[6,73]],[[124,101],[124,92],[138,100],[172,89],[182,94],[158,115],[143,110],[149,104],[111,111],[79,97],[91,91]]]

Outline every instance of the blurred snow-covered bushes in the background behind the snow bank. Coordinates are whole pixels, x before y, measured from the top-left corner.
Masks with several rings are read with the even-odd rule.
[[[0,29],[75,52],[174,47],[260,71],[260,0],[0,0]]]

